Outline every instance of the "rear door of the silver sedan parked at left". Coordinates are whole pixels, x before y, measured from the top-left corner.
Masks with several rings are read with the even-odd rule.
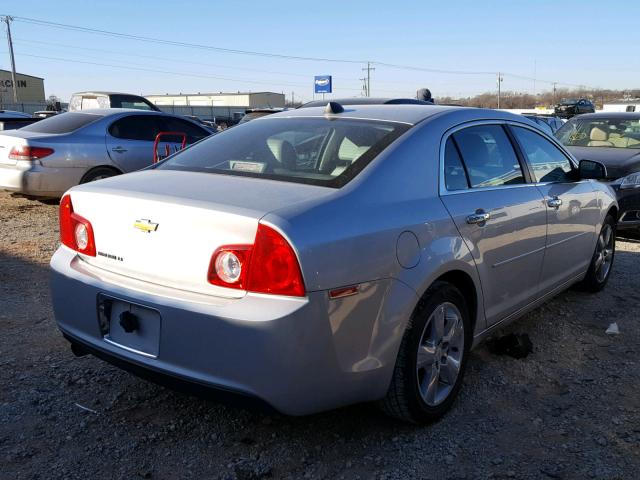
[[[161,115],[127,115],[107,129],[109,156],[123,172],[134,172],[153,163],[153,142],[162,130]]]

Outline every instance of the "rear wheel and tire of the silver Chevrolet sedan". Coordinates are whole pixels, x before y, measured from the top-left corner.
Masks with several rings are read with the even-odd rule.
[[[462,386],[471,329],[460,291],[449,283],[435,282],[404,333],[391,385],[380,402],[383,411],[419,424],[444,415]]]

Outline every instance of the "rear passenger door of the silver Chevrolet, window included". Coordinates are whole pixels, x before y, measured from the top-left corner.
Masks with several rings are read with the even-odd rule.
[[[547,228],[543,197],[501,124],[455,131],[442,165],[441,198],[473,254],[491,325],[538,295]]]

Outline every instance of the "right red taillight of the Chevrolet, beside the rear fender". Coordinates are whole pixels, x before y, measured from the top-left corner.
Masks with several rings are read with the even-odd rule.
[[[293,248],[279,232],[263,224],[258,225],[253,245],[226,245],[214,252],[209,282],[250,292],[304,296]]]

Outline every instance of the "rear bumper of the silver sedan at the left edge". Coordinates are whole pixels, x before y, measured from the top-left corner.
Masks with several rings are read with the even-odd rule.
[[[48,168],[37,162],[0,163],[0,190],[34,197],[60,197],[77,185],[86,168]]]

